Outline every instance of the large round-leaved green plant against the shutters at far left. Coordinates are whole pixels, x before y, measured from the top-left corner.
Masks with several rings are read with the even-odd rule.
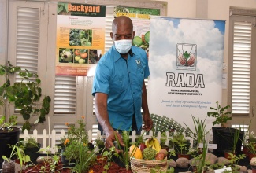
[[[27,69],[23,70],[20,67],[15,67],[9,62],[6,65],[0,65],[0,75],[3,75],[6,79],[0,87],[0,96],[6,102],[7,109],[13,103],[15,108],[20,110],[19,112],[25,120],[22,131],[31,129],[32,125],[29,119],[32,115],[38,116],[35,124],[43,123],[50,111],[51,100],[49,96],[45,96],[43,101],[40,102],[42,88],[40,87],[41,80],[39,76]],[[9,78],[14,75],[19,77],[19,82],[11,83]],[[10,120],[9,124],[13,125],[11,117],[11,115],[8,115],[8,120]]]

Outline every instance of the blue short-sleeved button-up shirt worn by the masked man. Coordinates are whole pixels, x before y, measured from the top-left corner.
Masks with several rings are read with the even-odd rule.
[[[133,115],[137,128],[141,128],[143,81],[149,75],[147,54],[136,46],[132,46],[127,60],[112,46],[98,61],[92,94],[108,94],[107,111],[113,128],[129,131]]]

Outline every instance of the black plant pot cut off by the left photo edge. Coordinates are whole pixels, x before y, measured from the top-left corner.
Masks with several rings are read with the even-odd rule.
[[[2,167],[2,156],[7,158],[12,153],[12,149],[9,148],[9,145],[15,145],[20,138],[21,129],[13,127],[13,131],[3,131],[0,129],[0,167]]]

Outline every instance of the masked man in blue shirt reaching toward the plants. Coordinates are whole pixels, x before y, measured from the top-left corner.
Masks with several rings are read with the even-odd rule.
[[[99,129],[106,134],[109,149],[118,138],[122,146],[121,131],[150,131],[152,120],[147,106],[144,79],[150,75],[147,54],[132,46],[135,35],[132,20],[121,16],[113,20],[110,33],[114,45],[97,64],[92,94],[95,96],[95,113]],[[117,152],[118,149],[116,149]]]

